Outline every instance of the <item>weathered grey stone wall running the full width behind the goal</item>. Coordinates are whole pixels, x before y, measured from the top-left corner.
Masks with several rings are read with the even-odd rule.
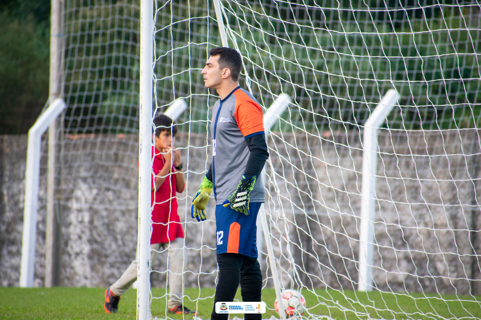
[[[480,140],[476,130],[380,131],[373,279],[387,291],[481,293]],[[56,195],[60,225],[58,285],[106,286],[135,259],[135,136],[71,136],[62,144]],[[190,218],[210,164],[205,135],[179,134],[187,188],[179,194],[186,285],[215,286],[214,201],[209,220]],[[357,288],[362,143],[359,132],[273,133],[263,206],[284,286]],[[187,147],[187,146],[190,147]],[[204,147],[196,147],[204,146]],[[0,139],[0,284],[18,285],[26,136]],[[42,164],[46,162],[42,158]],[[44,166],[39,193],[35,285],[43,285]],[[189,197],[187,197],[189,196]],[[262,242],[262,239],[259,239]],[[263,247],[265,252],[265,246]],[[270,277],[266,254],[261,255]],[[153,261],[152,285],[165,286],[166,255]],[[473,281],[475,280],[475,281]],[[272,280],[267,278],[266,285]]]

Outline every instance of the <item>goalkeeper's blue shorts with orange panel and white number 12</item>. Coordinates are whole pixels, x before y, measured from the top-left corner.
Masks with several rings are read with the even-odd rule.
[[[217,254],[239,253],[257,258],[257,213],[262,202],[249,203],[249,215],[222,204],[215,206]]]

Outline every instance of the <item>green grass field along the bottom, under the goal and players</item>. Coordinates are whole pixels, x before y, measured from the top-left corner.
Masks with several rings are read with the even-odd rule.
[[[105,288],[7,288],[0,287],[0,319],[136,319],[137,291],[127,290],[119,303],[116,314],[106,314],[103,310]],[[161,298],[152,300],[152,316],[159,319],[183,318],[182,315],[172,315],[166,312],[165,290],[152,289],[153,296]],[[197,309],[199,317],[210,319],[214,289],[187,288],[185,294],[193,301],[184,300],[190,309]],[[380,292],[344,291],[343,294],[333,290],[316,290],[317,297],[303,291],[309,314],[329,316],[341,319],[481,319],[481,296],[476,299],[471,296],[443,295],[426,297],[421,294],[411,296],[403,294],[386,294]],[[267,307],[274,305],[275,293],[273,289],[263,290],[263,301]],[[238,296],[240,298],[240,290]],[[462,301],[460,301],[462,300]],[[309,316],[304,313],[304,316]],[[243,318],[243,314],[231,314],[233,317]],[[274,310],[263,314],[263,319],[277,316]]]

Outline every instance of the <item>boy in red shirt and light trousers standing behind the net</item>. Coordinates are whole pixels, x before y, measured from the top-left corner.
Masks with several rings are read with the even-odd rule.
[[[155,124],[155,146],[152,146],[152,236],[151,261],[157,252],[168,248],[169,270],[169,313],[192,313],[182,305],[183,271],[186,265],[184,232],[177,214],[176,192],[185,187],[182,175],[180,151],[174,150],[177,126],[165,115],[153,120]],[[122,276],[105,290],[104,309],[107,313],[117,312],[118,302],[127,289],[137,280],[137,259],[130,263]]]

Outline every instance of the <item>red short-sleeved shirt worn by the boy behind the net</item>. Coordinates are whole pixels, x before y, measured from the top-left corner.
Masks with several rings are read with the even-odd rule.
[[[152,146],[152,185],[154,186],[154,175],[164,167],[164,156]],[[177,198],[176,198],[176,177],[175,168],[172,165],[171,174],[165,178],[164,182],[157,191],[152,190],[152,243],[162,243],[175,240],[175,238],[183,238],[184,231],[180,224],[180,218],[177,214]]]

